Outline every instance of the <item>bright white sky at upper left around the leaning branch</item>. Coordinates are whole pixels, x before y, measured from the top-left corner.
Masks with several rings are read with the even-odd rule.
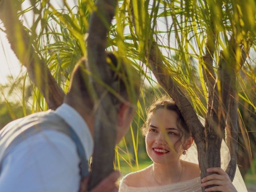
[[[63,0],[50,0],[55,8],[63,7]],[[66,0],[70,7],[73,7],[77,0]],[[29,6],[29,0],[25,0],[23,3],[23,8]],[[32,23],[32,12],[25,15],[24,22],[27,26]],[[3,28],[3,24],[0,27]],[[19,60],[16,58],[14,52],[12,51],[10,44],[6,38],[6,34],[0,30],[0,84],[4,85],[8,83],[7,76],[13,76],[14,79],[26,71],[25,67],[22,67]]]

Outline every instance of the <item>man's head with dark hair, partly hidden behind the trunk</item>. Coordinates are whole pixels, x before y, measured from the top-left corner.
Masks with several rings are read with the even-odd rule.
[[[111,71],[111,82],[114,91],[109,91],[114,96],[114,104],[118,108],[118,132],[117,141],[119,142],[126,130],[129,128],[134,115],[136,101],[140,90],[140,74],[132,67],[126,58],[118,58],[114,53],[106,53],[106,61]],[[87,61],[82,59],[75,66],[70,88],[66,96],[68,103],[76,108],[83,108],[85,114],[93,114],[93,86],[89,79],[90,74],[86,68]],[[79,109],[78,109],[79,110]]]

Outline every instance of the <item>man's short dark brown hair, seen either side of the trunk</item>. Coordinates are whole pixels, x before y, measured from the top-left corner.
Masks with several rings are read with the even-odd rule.
[[[111,84],[107,88],[116,97],[116,103],[136,104],[140,91],[140,74],[128,62],[127,58],[117,57],[113,52],[106,52],[106,67],[110,68]],[[88,70],[88,61],[82,58],[76,64],[72,78],[70,80],[70,87],[67,94],[72,98],[80,97],[88,104],[89,108],[93,108],[94,90],[90,72]],[[100,69],[99,69],[100,70]],[[105,82],[102,82],[102,84]],[[110,90],[112,88],[112,90]]]

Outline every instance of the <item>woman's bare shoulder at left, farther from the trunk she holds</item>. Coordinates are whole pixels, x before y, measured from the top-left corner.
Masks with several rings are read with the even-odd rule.
[[[145,186],[146,177],[148,176],[149,168],[150,168],[150,166],[148,166],[147,168],[144,168],[142,170],[139,170],[136,172],[131,172],[131,173],[127,174],[124,177],[123,182],[126,185],[131,186],[131,187]],[[138,181],[140,181],[140,182],[138,182]]]

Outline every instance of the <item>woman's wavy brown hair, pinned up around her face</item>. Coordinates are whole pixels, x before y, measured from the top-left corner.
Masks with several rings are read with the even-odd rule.
[[[142,126],[142,135],[146,136],[146,133],[148,132],[150,121],[154,115],[154,112],[157,109],[167,109],[176,112],[178,115],[177,118],[177,127],[180,130],[180,139],[177,141],[179,142],[183,137],[185,139],[189,138],[191,136],[191,131],[186,125],[186,122],[184,121],[184,118],[182,117],[180,110],[178,109],[178,106],[175,104],[174,100],[172,100],[170,97],[164,95],[161,98],[156,99],[153,104],[146,110],[147,111],[147,119]],[[176,143],[177,143],[176,142]],[[174,144],[175,146],[175,144]]]

